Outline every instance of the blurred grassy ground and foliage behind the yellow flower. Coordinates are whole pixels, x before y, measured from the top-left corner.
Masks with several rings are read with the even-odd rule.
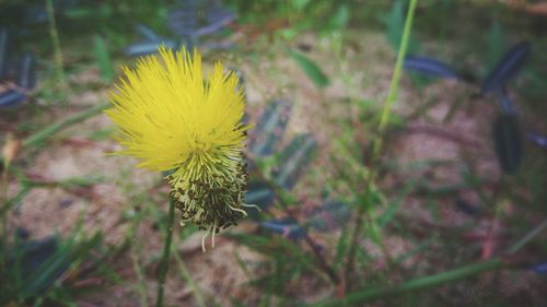
[[[161,45],[241,76],[261,208],[175,226],[165,306],[547,306],[547,1],[409,2],[0,0],[0,306],[154,304],[168,187],[103,110]]]

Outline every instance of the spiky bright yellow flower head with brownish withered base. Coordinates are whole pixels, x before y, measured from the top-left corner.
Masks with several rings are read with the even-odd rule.
[[[117,154],[139,158],[138,167],[172,172],[166,179],[182,223],[214,235],[245,215],[244,95],[221,63],[203,78],[197,50],[159,51],[140,58],[135,70],[124,68],[126,79],[110,96],[106,114],[125,147]]]

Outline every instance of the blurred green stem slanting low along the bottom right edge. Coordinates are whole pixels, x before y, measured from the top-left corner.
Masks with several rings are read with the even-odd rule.
[[[493,258],[491,260],[465,265],[451,271],[445,271],[435,275],[423,276],[408,282],[395,285],[392,287],[376,287],[365,291],[358,291],[348,294],[344,298],[325,300],[311,305],[301,305],[309,307],[336,307],[336,306],[349,306],[354,304],[362,304],[365,302],[371,302],[377,298],[393,297],[394,295],[401,293],[415,293],[416,291],[422,291],[430,287],[440,286],[442,284],[455,282],[458,280],[467,279],[484,272],[499,270],[508,267],[509,264],[503,262],[499,258]]]

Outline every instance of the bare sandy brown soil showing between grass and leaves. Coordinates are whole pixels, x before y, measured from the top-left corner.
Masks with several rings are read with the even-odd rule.
[[[243,62],[241,70],[246,82],[247,109],[252,120],[257,120],[269,101],[290,97],[293,110],[288,127],[288,138],[295,133],[309,132],[313,133],[317,140],[318,153],[314,164],[310,166],[311,169],[315,169],[313,176],[316,176],[310,180],[317,186],[306,188],[299,185],[294,191],[301,199],[310,201],[312,206],[319,202],[318,186],[327,182],[328,178],[336,174],[336,167],[333,165],[336,162],[331,158],[336,149],[331,140],[340,135],[342,131],[338,122],[351,120],[353,116],[354,109],[348,108],[344,99],[353,96],[363,101],[372,101],[375,103],[372,107],[380,109],[389,86],[394,52],[385,43],[384,36],[380,33],[351,33],[349,36],[357,47],[345,50],[347,63],[341,68],[331,60],[334,54],[329,50],[330,43],[326,38],[316,39],[305,35],[300,38],[306,44],[313,42],[311,43],[312,51],[307,56],[316,60],[331,78],[331,84],[325,90],[318,90],[284,55],[278,55],[272,59],[265,56],[259,60],[259,64],[246,62],[245,58],[241,59]],[[349,75],[347,80],[337,78],[340,75],[340,69]],[[74,76],[72,82],[85,84],[101,81],[96,70],[91,69],[82,71],[81,75]],[[446,93],[462,91],[465,90],[462,90],[461,85],[441,81],[429,85],[426,93],[419,93],[408,78],[403,78],[403,86],[397,104],[394,106],[396,114],[403,117],[411,114],[424,103],[421,101],[422,97],[433,97],[437,102],[426,116],[412,119],[407,122],[408,128],[394,134],[387,144],[391,154],[384,160],[396,161],[398,165],[434,160],[444,162],[445,166],[428,168],[428,170],[400,168],[396,174],[386,176],[386,186],[393,187],[405,178],[421,176],[427,176],[429,181],[440,182],[438,185],[441,186],[458,184],[462,181],[461,170],[466,167],[462,163],[462,154],[473,157],[481,176],[491,178],[493,181],[500,177],[496,157],[489,141],[486,141],[489,140],[491,120],[485,120],[485,118],[493,117],[492,104],[476,103],[473,113],[459,109],[451,121],[443,123],[451,105],[461,98],[456,94],[446,95]],[[72,97],[70,105],[92,105],[105,99],[106,91],[90,91]],[[71,110],[55,111],[57,119],[72,113]],[[39,149],[35,157],[28,162],[25,169],[27,175],[49,181],[83,177],[96,180],[96,182],[85,188],[33,189],[10,215],[10,228],[23,227],[30,232],[32,239],[39,239],[56,234],[69,236],[74,232],[78,221],[82,221],[85,233],[102,232],[105,245],[113,248],[124,245],[126,239],[129,239],[132,243],[131,248],[114,261],[118,273],[126,280],[121,284],[109,285],[106,290],[88,293],[77,299],[81,306],[139,306],[143,297],[148,304],[152,304],[156,286],[154,263],[162,251],[161,228],[153,224],[154,219],[143,219],[138,229],[135,231],[135,235],[130,237],[128,234],[132,229],[127,216],[142,210],[140,203],[144,198],[142,193],[155,193],[155,196],[148,196],[147,201],[155,203],[156,211],[166,211],[166,203],[162,197],[166,193],[166,186],[161,175],[135,168],[135,160],[107,155],[119,149],[119,145],[112,139],[90,140],[90,135],[94,132],[109,129],[112,129],[112,122],[105,115],[98,115],[61,132],[47,146]],[[368,139],[368,135],[364,138]],[[11,194],[16,190],[19,186],[12,182]],[[469,194],[468,198],[473,200],[473,193]],[[466,194],[464,193],[463,197]],[[440,221],[433,221],[429,209],[423,206],[423,201],[419,197],[409,197],[401,204],[400,211],[405,212],[404,215],[408,215],[409,219],[442,224],[446,227],[469,222],[469,217],[453,210],[453,205],[449,203],[446,201],[446,208],[441,210]],[[488,231],[489,224],[485,223],[478,223],[474,232]],[[177,225],[176,228],[178,229],[179,226]],[[242,223],[230,232],[253,233],[256,232],[256,225],[251,222]],[[201,235],[196,233],[184,241],[175,240],[174,251],[184,260],[206,300],[213,297],[221,306],[229,306],[231,297],[235,297],[249,306],[257,306],[263,293],[249,286],[247,281],[263,270],[260,262],[265,260],[265,256],[237,245],[222,235],[218,236],[216,248],[201,252]],[[339,233],[334,233],[329,236],[334,238],[338,235]],[[333,241],[323,235],[318,237],[325,244]],[[404,255],[412,248],[412,244],[401,237],[394,236],[385,239],[392,257]],[[363,240],[361,244],[371,253],[381,258],[381,250],[375,244],[369,240]],[[477,260],[479,257],[477,256]],[[137,283],[138,270],[132,264],[136,260],[146,269],[143,272],[146,290],[142,292],[139,291]],[[240,265],[242,261],[247,264],[248,271]],[[383,268],[384,264],[382,261],[374,263],[379,268]],[[405,262],[405,265],[409,268],[416,265],[416,260],[410,259]],[[535,278],[521,276],[521,279],[529,281]],[[307,302],[330,296],[336,291],[313,279],[303,279],[296,287],[301,291],[295,294],[295,297]],[[510,285],[513,293],[519,293],[520,290],[526,287],[524,282]],[[511,295],[508,294],[508,296]],[[182,278],[179,263],[175,259],[171,260],[166,299],[167,306],[198,306],[193,295],[191,284]]]

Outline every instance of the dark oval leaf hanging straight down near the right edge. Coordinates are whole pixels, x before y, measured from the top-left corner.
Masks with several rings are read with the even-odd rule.
[[[493,123],[492,137],[501,169],[510,175],[516,173],[522,158],[519,118],[514,115],[500,115]]]

